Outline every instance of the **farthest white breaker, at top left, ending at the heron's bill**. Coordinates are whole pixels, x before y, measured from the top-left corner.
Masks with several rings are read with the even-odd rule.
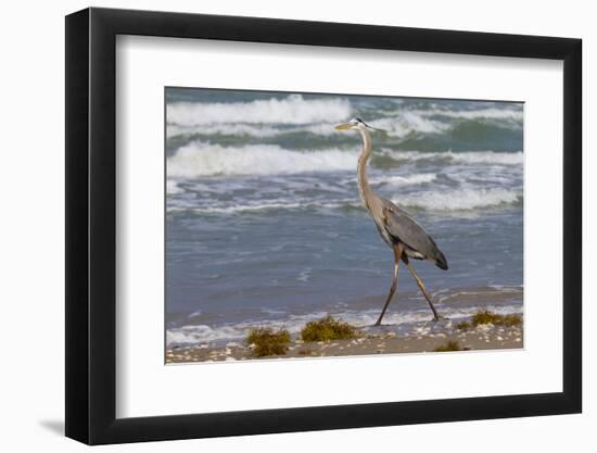
[[[284,99],[264,99],[252,102],[167,104],[168,124],[179,126],[214,124],[313,124],[345,121],[351,116],[346,99],[304,99],[291,95]]]

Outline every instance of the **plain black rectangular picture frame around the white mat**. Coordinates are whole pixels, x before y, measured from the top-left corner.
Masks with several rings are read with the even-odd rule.
[[[563,61],[563,391],[116,418],[117,35]],[[86,9],[66,16],[66,436],[88,444],[582,411],[582,41],[274,18]]]

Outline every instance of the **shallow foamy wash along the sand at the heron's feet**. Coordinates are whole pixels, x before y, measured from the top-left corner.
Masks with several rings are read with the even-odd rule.
[[[166,322],[166,348],[199,344],[225,347],[228,342],[243,342],[253,328],[285,329],[291,336],[298,336],[307,323],[327,315],[368,331],[379,317],[384,298],[384,294],[366,295],[347,299],[343,304],[321,303],[315,309],[305,307],[303,311],[298,305],[271,312],[245,309],[240,316],[233,311],[220,311],[219,316],[202,311],[170,316]],[[431,320],[431,313],[420,291],[403,291],[399,298],[399,304],[391,306],[385,314],[383,329],[402,337],[412,334],[418,327],[424,328],[425,323]],[[454,325],[470,320],[471,316],[483,310],[500,315],[522,314],[524,311],[520,287],[457,287],[435,291],[433,298],[440,313],[452,319]],[[445,329],[445,332],[449,332],[449,329]]]

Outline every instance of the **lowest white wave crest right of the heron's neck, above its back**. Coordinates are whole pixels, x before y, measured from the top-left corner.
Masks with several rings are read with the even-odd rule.
[[[516,203],[520,197],[520,189],[457,189],[401,194],[393,201],[431,211],[467,211]]]

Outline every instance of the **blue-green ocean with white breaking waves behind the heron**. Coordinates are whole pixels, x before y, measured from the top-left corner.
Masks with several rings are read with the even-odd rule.
[[[360,205],[373,189],[435,239],[415,261],[443,315],[522,311],[523,105],[512,102],[167,88],[166,341],[241,340],[332,314],[374,322],[393,255]],[[384,323],[431,318],[405,268]]]

